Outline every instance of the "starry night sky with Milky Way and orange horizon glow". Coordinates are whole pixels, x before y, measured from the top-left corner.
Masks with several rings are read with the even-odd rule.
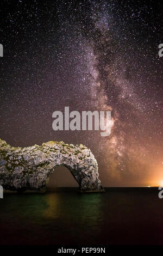
[[[104,186],[163,185],[161,1],[5,0],[0,17],[0,137],[85,144]],[[110,110],[111,135],[54,131],[65,106]]]

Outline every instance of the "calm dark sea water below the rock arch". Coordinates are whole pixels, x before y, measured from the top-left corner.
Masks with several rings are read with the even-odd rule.
[[[163,244],[158,190],[5,194],[1,245]]]

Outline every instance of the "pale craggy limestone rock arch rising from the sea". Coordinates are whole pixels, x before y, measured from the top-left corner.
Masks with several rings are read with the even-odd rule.
[[[66,166],[81,192],[102,192],[98,165],[82,144],[47,142],[14,148],[0,139],[0,185],[9,191],[43,191],[55,166]]]

